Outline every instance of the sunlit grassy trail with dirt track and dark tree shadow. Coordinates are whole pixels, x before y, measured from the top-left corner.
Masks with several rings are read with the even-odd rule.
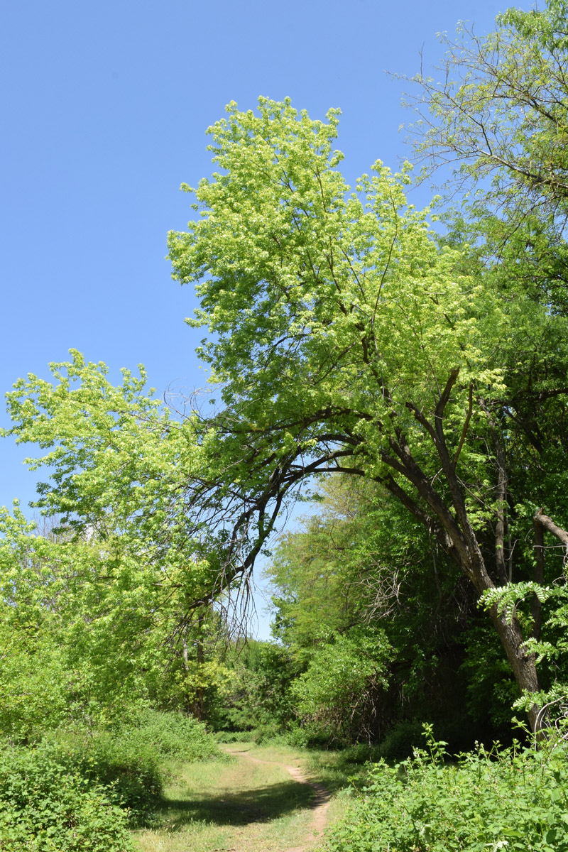
[[[312,852],[338,805],[285,746],[232,744],[229,762],[190,763],[168,790],[141,852]],[[330,811],[328,812],[328,809]]]

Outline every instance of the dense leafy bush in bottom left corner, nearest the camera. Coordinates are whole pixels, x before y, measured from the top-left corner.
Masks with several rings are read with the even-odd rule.
[[[53,746],[3,744],[2,852],[129,852],[127,815],[100,785],[61,764]]]

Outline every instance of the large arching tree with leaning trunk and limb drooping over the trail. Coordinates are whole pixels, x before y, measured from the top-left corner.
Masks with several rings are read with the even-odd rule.
[[[83,525],[118,518],[138,552],[152,542],[188,607],[243,588],[286,505],[320,474],[380,483],[478,596],[524,567],[509,548],[508,465],[524,454],[531,467],[531,448],[503,428],[517,373],[499,350],[507,341],[527,375],[548,305],[468,274],[428,211],[407,204],[408,166],[393,176],[377,162],[351,193],[337,121],[262,98],[258,114],[229,105],[209,131],[219,171],[169,250],[175,277],[197,283],[191,322],[209,329],[200,354],[216,413],[158,417],[131,377],[111,389],[80,361],[9,397],[18,439],[56,447],[43,504]],[[519,620],[496,604],[490,616],[519,688],[536,693]],[[529,715],[536,725],[536,705]]]

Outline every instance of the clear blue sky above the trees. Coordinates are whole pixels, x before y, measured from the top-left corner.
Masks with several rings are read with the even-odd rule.
[[[410,156],[403,84],[437,32],[491,29],[497,0],[20,0],[3,4],[0,386],[77,348],[112,377],[204,383],[183,322],[192,291],[170,279],[166,233],[191,216],[182,181],[210,174],[204,131],[258,95],[324,118],[341,107],[347,180]],[[420,199],[420,202],[425,199]],[[7,425],[2,412],[0,423]],[[0,443],[0,505],[34,494],[29,450]]]

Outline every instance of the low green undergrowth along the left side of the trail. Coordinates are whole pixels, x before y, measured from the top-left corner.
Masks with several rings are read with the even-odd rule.
[[[166,766],[223,757],[204,725],[144,711],[108,730],[62,728],[0,752],[2,852],[128,852],[128,827],[152,823]]]

